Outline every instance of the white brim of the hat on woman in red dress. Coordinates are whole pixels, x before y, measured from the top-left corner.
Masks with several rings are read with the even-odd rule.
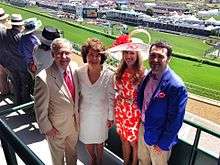
[[[144,43],[125,43],[107,49],[104,53],[107,53],[117,60],[121,60],[123,51],[137,51],[140,53],[143,60],[146,60],[149,56],[149,48],[150,45]]]

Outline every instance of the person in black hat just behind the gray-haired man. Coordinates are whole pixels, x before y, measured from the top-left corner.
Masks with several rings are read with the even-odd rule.
[[[41,45],[34,52],[34,61],[37,66],[36,74],[53,63],[50,45],[54,39],[60,38],[61,34],[58,29],[47,26],[44,27],[41,35],[38,35],[38,37]]]

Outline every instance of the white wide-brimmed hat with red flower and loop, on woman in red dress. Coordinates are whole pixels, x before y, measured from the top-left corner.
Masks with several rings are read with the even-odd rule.
[[[135,34],[144,33],[148,37],[148,43],[144,43],[141,39],[132,37]],[[123,34],[116,38],[112,47],[107,49],[105,53],[111,57],[121,60],[123,51],[138,51],[142,58],[145,60],[149,55],[149,48],[151,42],[151,36],[145,29],[136,29],[129,35]]]

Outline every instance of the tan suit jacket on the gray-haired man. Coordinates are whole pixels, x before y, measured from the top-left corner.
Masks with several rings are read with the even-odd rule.
[[[78,128],[78,78],[75,69],[77,64],[69,65],[75,85],[75,100],[64,83],[59,68],[53,63],[42,70],[35,79],[35,112],[39,128],[46,133],[55,127],[63,136]]]

